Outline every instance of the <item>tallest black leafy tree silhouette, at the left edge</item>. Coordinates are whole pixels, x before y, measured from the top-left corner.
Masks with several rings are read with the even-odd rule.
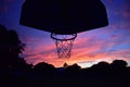
[[[20,58],[24,46],[15,30],[8,30],[3,25],[0,25],[0,67],[24,69],[27,63],[23,58]]]

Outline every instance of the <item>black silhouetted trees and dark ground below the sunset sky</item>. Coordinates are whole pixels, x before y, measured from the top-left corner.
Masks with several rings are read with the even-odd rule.
[[[101,61],[87,69],[81,69],[78,64],[67,65],[67,63],[63,67],[54,67],[46,62],[32,65],[20,57],[25,46],[15,30],[8,30],[5,26],[0,25],[0,79],[4,83],[3,87],[9,85],[13,87],[38,85],[107,87],[106,84],[126,87],[129,85],[130,66],[125,60],[114,60],[112,63]]]

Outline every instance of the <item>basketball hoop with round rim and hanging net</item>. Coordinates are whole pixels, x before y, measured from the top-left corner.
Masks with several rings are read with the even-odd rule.
[[[72,35],[57,35],[53,33],[51,34],[51,38],[54,40],[56,45],[57,55],[60,59],[70,58],[73,42],[76,37],[77,37],[77,34],[72,34]]]

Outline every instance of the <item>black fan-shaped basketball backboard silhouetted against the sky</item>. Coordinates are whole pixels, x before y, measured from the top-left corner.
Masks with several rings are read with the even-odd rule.
[[[53,39],[55,36],[52,35],[75,34],[76,37],[77,33],[108,25],[106,9],[101,0],[26,0],[20,23],[49,32]],[[66,38],[58,40],[65,41]]]

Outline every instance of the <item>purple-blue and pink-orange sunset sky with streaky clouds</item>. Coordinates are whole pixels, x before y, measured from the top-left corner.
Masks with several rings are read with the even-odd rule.
[[[126,60],[130,65],[130,0],[102,0],[109,25],[79,33],[69,59],[57,58],[50,33],[20,25],[24,1],[0,0],[0,24],[16,30],[22,42],[26,44],[22,57],[27,63],[47,62],[60,67],[66,62],[88,67],[100,61]]]

